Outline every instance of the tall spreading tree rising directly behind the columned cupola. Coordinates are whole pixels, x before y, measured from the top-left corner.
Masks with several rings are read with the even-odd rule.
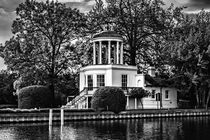
[[[104,24],[113,24],[125,43],[125,58],[131,65],[159,64],[165,36],[179,20],[182,8],[163,8],[161,0],[96,0],[89,12],[91,31],[102,29]],[[158,61],[158,62],[156,62]]]

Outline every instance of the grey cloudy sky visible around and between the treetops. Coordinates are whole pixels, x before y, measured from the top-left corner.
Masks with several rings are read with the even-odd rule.
[[[42,0],[38,0],[42,1]],[[82,12],[87,12],[94,5],[95,0],[58,0],[68,6],[79,8]],[[197,12],[200,9],[210,9],[210,0],[163,0],[166,5],[174,3],[175,6],[186,6],[185,12]],[[11,36],[11,25],[15,19],[15,9],[24,0],[0,0],[0,43],[8,40]],[[0,58],[0,69],[5,68],[3,60]]]

